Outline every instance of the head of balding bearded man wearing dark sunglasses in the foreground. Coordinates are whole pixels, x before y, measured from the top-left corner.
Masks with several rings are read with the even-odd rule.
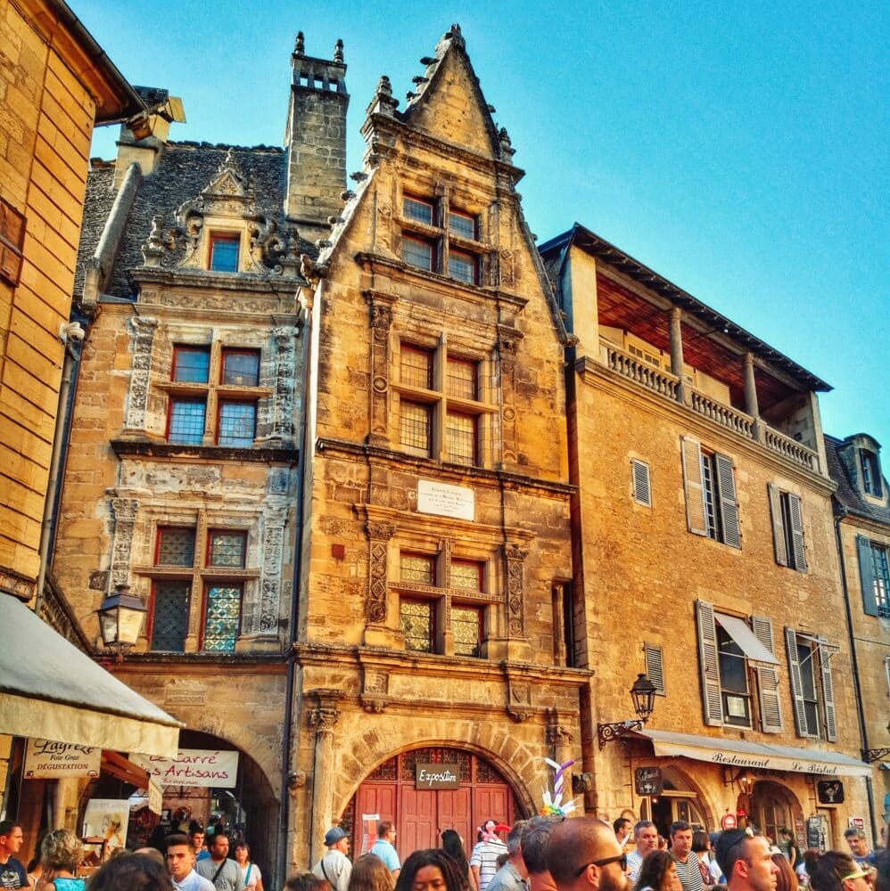
[[[630,891],[627,854],[608,823],[576,817],[556,826],[547,865],[558,891]]]

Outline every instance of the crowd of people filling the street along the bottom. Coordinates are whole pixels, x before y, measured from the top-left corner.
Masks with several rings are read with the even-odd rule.
[[[506,837],[506,841],[501,836]],[[706,833],[688,822],[669,838],[646,820],[612,826],[594,817],[558,814],[515,822],[488,820],[466,855],[453,829],[441,846],[401,862],[392,822],[380,822],[367,854],[350,861],[340,826],[325,836],[325,854],[287,879],[284,891],[890,891],[890,851],[869,850],[864,832],[846,830],[848,851],[801,852],[794,833],[779,844],[754,830]],[[26,868],[15,857],[21,826],[0,822],[0,888],[29,891],[264,891],[251,851],[236,839],[229,856],[225,825],[152,839],[158,846],[116,852],[85,881],[77,876],[80,841],[69,830],[43,838]]]

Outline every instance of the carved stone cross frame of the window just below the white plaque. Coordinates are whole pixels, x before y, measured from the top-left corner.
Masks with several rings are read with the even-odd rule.
[[[486,544],[467,542],[464,536],[438,538],[398,533],[390,542],[391,567],[388,589],[391,594],[393,614],[400,628],[401,601],[433,601],[433,647],[431,655],[458,658],[485,658],[484,645],[495,634],[498,625],[492,609],[503,598],[493,589],[498,578],[498,554]],[[433,560],[435,584],[402,581],[400,566],[402,554],[414,554]],[[452,563],[473,563],[480,568],[480,590],[472,591],[461,585],[450,584]],[[451,631],[451,610],[454,606],[475,607],[481,610],[480,636],[475,655],[461,655],[454,651]],[[404,641],[402,642],[404,646]],[[405,648],[408,649],[407,647]],[[414,650],[412,650],[414,651]]]

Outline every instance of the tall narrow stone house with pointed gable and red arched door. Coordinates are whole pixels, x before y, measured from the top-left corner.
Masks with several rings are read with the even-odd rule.
[[[423,62],[403,111],[381,78],[356,190],[301,292],[296,862],[339,820],[360,849],[367,814],[403,852],[447,826],[472,844],[487,817],[540,806],[545,756],[581,755],[589,673],[565,667],[555,622],[565,332],[457,26]],[[455,788],[424,789],[424,764]]]

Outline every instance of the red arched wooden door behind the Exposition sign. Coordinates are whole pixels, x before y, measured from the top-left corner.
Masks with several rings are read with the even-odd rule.
[[[417,764],[456,764],[457,789],[417,789]],[[528,815],[522,797],[497,767],[474,752],[444,746],[402,752],[378,764],[361,782],[342,815],[356,854],[361,851],[362,814],[368,813],[395,823],[402,860],[418,848],[438,847],[445,829],[460,833],[469,854],[482,821],[491,817],[512,823]]]

